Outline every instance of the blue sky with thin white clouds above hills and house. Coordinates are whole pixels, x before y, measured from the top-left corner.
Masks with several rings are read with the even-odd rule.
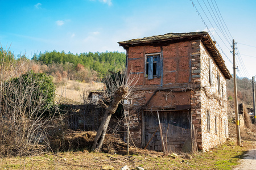
[[[207,19],[207,17],[211,19],[208,10],[211,11],[210,7],[213,8],[213,5],[217,4],[230,31],[230,34],[227,34],[230,35],[230,39],[238,42],[238,49],[243,54],[237,64],[238,76],[251,78],[256,75],[256,48],[251,47],[256,46],[256,1],[253,0],[0,0],[0,2],[0,42],[4,49],[8,49],[11,45],[10,50],[14,54],[26,53],[30,58],[34,53],[52,50],[58,52],[64,50],[66,53],[106,50],[125,52],[118,46],[118,41],[169,32],[207,31],[206,24],[213,39],[224,51],[225,55],[221,53],[222,57],[230,73],[233,74],[232,62],[229,61],[232,60],[230,53],[232,42],[229,39],[227,42],[221,35],[220,29],[216,27],[217,24],[215,25],[213,20],[210,24]],[[213,5],[208,6],[207,9],[204,3]],[[204,12],[207,15],[204,15]]]

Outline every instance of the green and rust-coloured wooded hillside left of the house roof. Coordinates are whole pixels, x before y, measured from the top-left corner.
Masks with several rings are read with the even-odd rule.
[[[40,63],[40,65],[46,65],[48,68],[46,70],[48,74],[66,74],[63,71],[67,72],[69,79],[84,79],[86,78],[77,77],[77,75],[70,75],[71,72],[84,72],[88,76],[95,76],[97,73],[98,78],[102,79],[109,74],[110,71],[122,70],[126,63],[126,54],[123,52],[103,52],[103,53],[81,53],[81,54],[72,54],[56,52],[45,52],[39,53],[38,55],[34,54],[32,61]],[[44,66],[45,67],[45,66]],[[59,73],[57,73],[59,71]],[[92,78],[94,79],[94,78]]]

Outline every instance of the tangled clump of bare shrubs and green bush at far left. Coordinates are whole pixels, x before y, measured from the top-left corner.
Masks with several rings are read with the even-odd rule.
[[[50,117],[45,113],[53,104],[55,88],[44,78],[48,77],[28,72],[2,82],[1,155],[26,155],[46,148]]]

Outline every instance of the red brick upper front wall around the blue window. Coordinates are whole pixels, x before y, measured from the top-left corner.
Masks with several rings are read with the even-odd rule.
[[[163,49],[163,86],[174,86],[174,84],[188,83],[191,75],[191,42],[177,42]],[[131,73],[139,73],[138,86],[160,85],[161,77],[148,80],[144,77],[145,54],[161,53],[160,46],[134,46],[130,47],[128,54],[128,71]],[[172,84],[172,85],[170,85]]]

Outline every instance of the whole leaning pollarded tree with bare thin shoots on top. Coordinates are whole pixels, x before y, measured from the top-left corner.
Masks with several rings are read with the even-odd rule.
[[[106,130],[112,115],[117,110],[118,104],[122,99],[130,99],[133,97],[133,88],[138,82],[138,74],[127,74],[127,70],[123,74],[114,73],[106,78],[106,90],[100,101],[106,108],[100,128],[97,131],[92,151],[100,152],[105,139]],[[108,103],[108,104],[105,104]]]

